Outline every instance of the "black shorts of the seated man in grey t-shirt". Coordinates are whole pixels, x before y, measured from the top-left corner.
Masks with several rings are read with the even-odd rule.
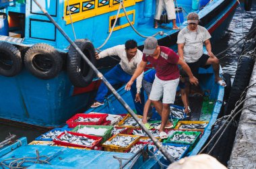
[[[191,72],[193,73],[193,75],[198,78],[198,70],[199,68],[209,68],[211,65],[205,65],[208,58],[210,58],[210,56],[208,56],[207,54],[203,54],[199,60],[197,60],[197,62],[192,62],[192,63],[187,63],[187,65],[189,65],[189,68],[191,69]]]

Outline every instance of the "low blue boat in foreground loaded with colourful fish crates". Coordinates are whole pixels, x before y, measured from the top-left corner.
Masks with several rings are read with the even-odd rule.
[[[220,70],[220,73],[222,73],[222,70]],[[168,152],[172,154],[171,156],[173,156],[175,160],[179,160],[185,156],[193,156],[199,153],[199,150],[201,150],[207,139],[210,137],[212,125],[214,125],[216,122],[222,107],[224,87],[221,87],[214,82],[214,72],[212,67],[207,69],[201,68],[199,70],[199,85],[201,90],[205,91],[207,94],[200,97],[190,97],[191,102],[195,101],[197,103],[197,110],[192,109],[191,121],[184,121],[184,117],[175,119],[175,117],[170,115],[170,119],[176,122],[173,129],[168,129],[168,131],[166,131],[168,135],[169,132],[172,133],[170,133],[168,139],[162,140],[162,142],[164,142],[163,145],[173,146],[172,148],[185,148],[178,157],[173,155],[174,153],[172,154],[173,150],[168,150]],[[132,97],[130,92],[125,91],[124,87],[121,87],[121,89],[118,90],[118,93],[131,106],[131,109],[134,109],[132,101],[133,99],[131,99]],[[182,109],[181,105],[171,105],[171,107],[172,113],[173,111],[179,111],[179,109]],[[88,111],[85,113],[75,115],[67,121],[67,125],[64,127],[60,129],[54,129],[45,133],[44,135],[40,135],[30,144],[27,143],[26,137],[22,137],[18,139],[18,141],[16,141],[14,144],[1,148],[0,162],[4,167],[17,167],[16,164],[20,164],[18,166],[28,168],[162,168],[170,164],[170,162],[164,159],[164,156],[157,154],[158,151],[151,143],[149,143],[150,141],[141,143],[141,139],[143,139],[143,137],[137,135],[139,127],[133,128],[134,126],[132,125],[125,125],[125,121],[127,118],[129,118],[129,115],[126,115],[125,118],[121,121],[115,121],[113,120],[115,118],[113,118],[110,120],[111,123],[107,123],[105,125],[82,125],[86,122],[75,122],[75,119],[82,117],[86,119],[86,117],[100,117],[101,115],[102,118],[103,116],[106,118],[106,116],[117,116],[126,112],[127,111],[119,103],[119,101],[117,101],[113,95],[110,95],[106,99],[106,104],[94,109],[88,109]],[[112,123],[113,121],[114,123]],[[155,122],[156,121],[151,120],[149,123],[154,125]],[[92,123],[92,119],[89,123]],[[106,121],[104,123],[106,123]],[[78,130],[90,126],[90,132],[94,132],[94,136],[90,136],[92,139],[93,137],[96,137],[95,135],[100,135],[100,131],[92,131],[92,127],[96,129],[101,127],[104,129],[112,130],[113,125],[115,124],[118,126],[115,127],[117,129],[125,130],[128,128],[130,130],[129,133],[125,133],[123,136],[136,137],[136,139],[139,139],[140,141],[140,143],[136,142],[136,145],[143,144],[143,146],[148,145],[148,147],[139,147],[137,152],[132,152],[131,148],[133,148],[135,145],[128,146],[127,150],[123,150],[118,146],[111,146],[106,144],[106,142],[111,142],[114,137],[121,136],[120,133],[113,133],[113,135],[112,133],[105,134],[102,136],[104,142],[101,142],[100,144],[98,142],[94,148],[77,145],[77,143],[71,144],[72,142],[70,140],[68,142],[63,142],[64,139],[61,137],[61,135],[83,136],[80,134],[83,132]],[[194,129],[182,129],[181,127],[182,125],[191,124],[201,124],[203,127]],[[60,132],[55,134],[57,138],[53,137],[54,132],[56,131]],[[182,133],[185,135],[197,135],[197,137],[194,138],[195,141],[193,141],[193,144],[188,145],[179,140],[178,142],[170,143],[171,138],[174,137],[175,134]],[[49,134],[49,136],[46,136],[47,134]],[[86,136],[88,137],[88,135]],[[148,154],[148,156],[145,154]],[[37,162],[35,162],[36,164],[32,163],[31,161],[27,162],[27,160],[33,159],[37,160]]]

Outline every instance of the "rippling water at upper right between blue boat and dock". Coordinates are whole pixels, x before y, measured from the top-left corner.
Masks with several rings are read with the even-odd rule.
[[[249,32],[253,18],[256,17],[256,1],[253,2],[251,11],[244,11],[243,4],[241,4],[241,6],[242,10],[241,7],[236,9],[236,13],[234,13],[234,17],[224,38],[216,44],[212,44],[214,54],[218,54],[228,48],[228,46],[232,46],[232,44],[241,40],[241,38]],[[222,69],[224,72],[229,73],[232,79],[234,79],[234,75],[236,74],[237,60],[241,54],[241,48],[238,48],[237,50],[236,48],[241,45],[243,46],[243,42],[244,41],[240,42],[221,56],[218,56]]]

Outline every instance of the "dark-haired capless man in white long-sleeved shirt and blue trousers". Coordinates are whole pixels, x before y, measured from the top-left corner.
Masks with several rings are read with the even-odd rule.
[[[99,54],[96,52],[96,59],[104,58],[106,56],[119,56],[121,62],[114,68],[104,74],[105,78],[111,85],[125,84],[128,82],[135,72],[137,66],[141,62],[142,52],[137,50],[137,42],[135,40],[127,40],[125,45],[114,46],[103,50]],[[133,101],[135,101],[135,109],[139,115],[143,113],[143,92],[141,92],[141,82],[143,78],[143,72],[141,72],[137,78],[137,82],[131,87],[131,95]],[[137,89],[137,90],[136,90]],[[104,97],[108,93],[108,88],[102,82],[98,89],[95,102],[91,107],[99,107],[104,105]]]

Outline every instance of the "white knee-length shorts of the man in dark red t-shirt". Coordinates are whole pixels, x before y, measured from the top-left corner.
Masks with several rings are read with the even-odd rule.
[[[162,103],[173,104],[180,78],[174,80],[160,80],[157,76],[153,82],[150,93],[150,100],[160,101]]]

